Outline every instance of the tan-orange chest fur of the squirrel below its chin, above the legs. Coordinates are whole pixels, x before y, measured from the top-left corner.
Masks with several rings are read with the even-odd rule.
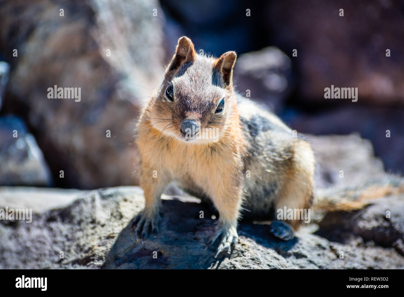
[[[150,175],[156,171],[166,184],[175,182],[191,190],[196,186],[209,197],[214,197],[217,189],[240,186],[239,143],[228,141],[227,137],[217,143],[185,143],[147,128],[149,124],[139,123],[137,145],[143,150],[142,160],[148,163],[145,170],[151,171]]]

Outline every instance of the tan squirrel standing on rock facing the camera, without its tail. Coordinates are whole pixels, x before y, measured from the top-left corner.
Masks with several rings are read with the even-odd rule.
[[[218,210],[208,241],[219,240],[215,257],[238,241],[241,215],[275,219],[269,230],[288,240],[302,219],[276,220],[276,210],[311,207],[313,150],[274,114],[236,93],[236,57],[234,51],[219,58],[198,55],[189,38],[179,38],[137,124],[145,196],[145,208],[133,221],[137,236],[159,232],[160,196],[171,182],[210,198]]]

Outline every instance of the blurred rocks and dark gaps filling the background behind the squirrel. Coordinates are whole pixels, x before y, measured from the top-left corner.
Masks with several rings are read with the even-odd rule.
[[[136,185],[135,122],[182,35],[198,52],[237,51],[240,93],[298,132],[358,133],[314,147],[366,166],[355,147],[370,139],[382,162],[368,176],[383,164],[402,173],[403,27],[404,3],[392,0],[0,1],[0,185]],[[358,102],[324,99],[332,84],[358,87]],[[81,87],[81,101],[48,99],[54,85]],[[331,161],[319,166],[322,187],[340,182]]]

